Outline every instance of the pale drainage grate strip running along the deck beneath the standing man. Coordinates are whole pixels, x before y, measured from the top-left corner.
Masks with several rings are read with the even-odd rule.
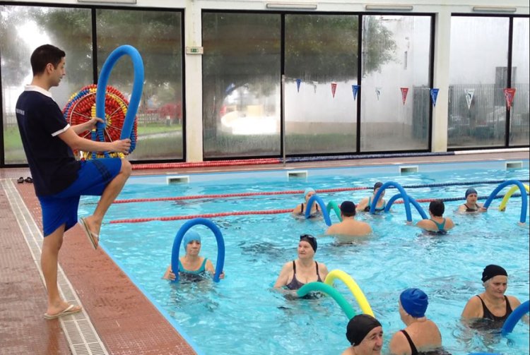
[[[28,207],[26,207],[20,194],[16,190],[13,181],[8,179],[0,180],[0,186],[6,191],[11,210],[13,210],[13,213],[16,216],[20,231],[22,231],[26,243],[28,243],[33,262],[37,266],[37,270],[39,270],[40,277],[44,283],[44,276],[42,275],[39,261],[40,251],[42,249],[42,234],[40,233],[40,229],[37,227]],[[65,301],[81,305],[81,301],[76,292],[73,291],[73,287],[66,278],[66,275],[64,275],[64,271],[60,265],[57,270],[57,284],[59,285],[61,296]],[[98,333],[95,331],[94,325],[90,322],[90,318],[84,308],[83,311],[79,313],[59,318],[59,322],[61,323],[64,335],[73,355],[109,354],[98,336]]]

